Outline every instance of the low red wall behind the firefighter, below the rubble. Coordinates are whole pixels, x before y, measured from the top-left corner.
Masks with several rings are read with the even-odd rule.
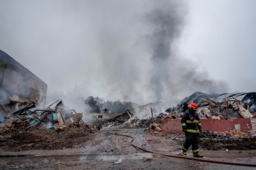
[[[249,132],[252,130],[251,119],[236,118],[233,120],[217,120],[217,119],[200,119],[202,130],[209,130],[210,132],[229,132],[232,130],[240,130],[241,132]],[[160,127],[162,132],[169,133],[183,133],[180,119],[168,120],[165,119],[163,126]]]

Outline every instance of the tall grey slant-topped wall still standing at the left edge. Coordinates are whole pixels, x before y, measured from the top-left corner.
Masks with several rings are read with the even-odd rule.
[[[41,102],[46,92],[44,81],[0,50],[0,105],[10,103],[10,97]]]

